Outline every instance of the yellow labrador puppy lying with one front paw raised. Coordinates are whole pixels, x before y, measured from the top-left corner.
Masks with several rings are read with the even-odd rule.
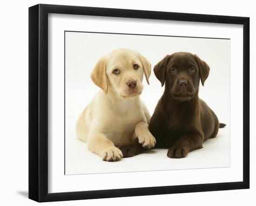
[[[129,49],[109,53],[94,67],[91,79],[101,90],[81,113],[76,133],[103,160],[131,157],[142,147],[155,146],[155,137],[148,130],[150,114],[139,98],[143,73],[148,82],[150,63]]]

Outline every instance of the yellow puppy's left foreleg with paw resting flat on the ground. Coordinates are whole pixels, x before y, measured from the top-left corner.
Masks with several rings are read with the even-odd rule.
[[[121,150],[115,147],[114,143],[108,140],[103,133],[89,135],[88,149],[104,161],[117,161],[123,157]]]

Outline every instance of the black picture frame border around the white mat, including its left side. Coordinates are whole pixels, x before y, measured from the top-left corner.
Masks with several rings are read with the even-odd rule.
[[[48,193],[48,13],[243,25],[243,181]],[[38,202],[249,188],[249,18],[38,4],[29,7],[29,199]]]

